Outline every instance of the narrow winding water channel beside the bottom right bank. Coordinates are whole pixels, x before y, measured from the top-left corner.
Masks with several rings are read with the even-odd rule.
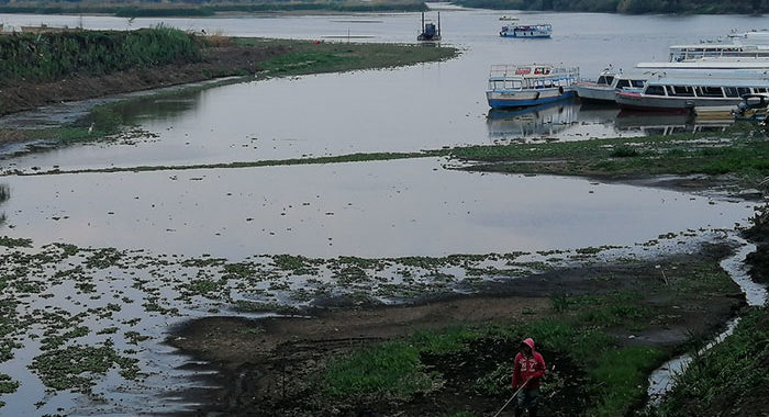
[[[760,306],[767,302],[767,289],[766,286],[754,282],[750,280],[746,271],[745,258],[748,253],[756,250],[756,246],[751,243],[737,236],[734,233],[729,236],[734,241],[739,245],[739,248],[731,257],[724,259],[721,262],[721,268],[723,268],[732,280],[739,285],[739,289],[745,293],[745,298],[750,306]],[[726,323],[726,329],[705,345],[698,353],[705,352],[713,348],[714,346],[721,343],[726,337],[734,333],[734,329],[739,324],[739,317],[735,317]],[[657,368],[651,375],[649,375],[649,390],[648,390],[648,404],[658,404],[666,393],[668,393],[676,384],[676,375],[680,375],[687,370],[687,367],[692,361],[692,356],[687,353],[676,357],[661,367]]]

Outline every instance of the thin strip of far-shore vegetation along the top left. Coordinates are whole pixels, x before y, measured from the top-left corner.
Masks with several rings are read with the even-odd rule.
[[[381,12],[425,11],[420,0],[213,0],[213,1],[14,1],[0,4],[0,13],[36,14],[113,14],[122,18],[210,16],[215,13],[264,12]]]

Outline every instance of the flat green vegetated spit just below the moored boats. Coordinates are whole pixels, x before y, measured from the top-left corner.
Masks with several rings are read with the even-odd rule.
[[[764,133],[746,132],[744,127],[735,125],[718,136],[682,134],[470,146],[455,148],[450,156],[477,162],[470,170],[612,178],[729,173],[755,187],[769,176],[769,139]]]

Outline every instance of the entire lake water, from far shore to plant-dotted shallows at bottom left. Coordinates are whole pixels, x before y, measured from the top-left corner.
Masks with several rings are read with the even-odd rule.
[[[233,300],[308,302],[296,292],[311,288],[312,280],[274,271],[269,285],[231,280],[233,288],[224,293],[190,295],[191,283],[221,278],[218,271],[191,267],[209,264],[208,257],[222,258],[211,261],[216,268],[226,262],[254,262],[248,264],[259,270],[271,266],[271,258],[259,257],[281,253],[323,259],[442,257],[572,251],[599,246],[636,252],[667,235],[675,239],[670,238],[673,241],[664,250],[688,250],[689,243],[716,238],[753,215],[753,204],[722,198],[579,178],[468,173],[445,169],[447,161],[438,158],[174,169],[194,164],[415,151],[515,140],[579,140],[693,129],[717,133],[725,124],[621,114],[616,109],[587,108],[578,102],[534,112],[490,112],[483,95],[489,66],[565,63],[579,66],[583,77],[594,78],[610,64],[631,68],[637,61],[664,60],[671,44],[696,43],[762,24],[757,18],[739,15],[627,16],[441,8],[443,42],[462,49],[457,59],[399,69],[252,81],[149,98],[122,106],[121,112],[153,133],[152,137],[76,145],[20,157],[5,154],[2,168],[23,170],[144,165],[168,169],[0,179],[9,194],[0,202],[0,213],[4,214],[0,233],[33,241],[30,249],[3,249],[4,273],[26,268],[27,252],[58,259],[59,249],[47,244],[82,248],[81,259],[64,258],[31,273],[37,279],[35,284],[44,288],[41,292],[22,294],[21,288],[12,290],[24,301],[16,311],[36,318],[43,317],[41,312],[57,311],[70,326],[85,314],[82,320],[91,331],[76,338],[78,342],[101,346],[110,340],[119,352],[136,359],[138,367],[149,373],[135,384],[113,369],[97,380],[94,393],[100,396],[93,401],[65,391],[46,394],[27,364],[41,354],[40,335],[59,331],[65,325],[55,320],[29,325],[18,335],[23,348],[14,350],[13,360],[0,363],[0,373],[22,383],[16,393],[0,397],[7,403],[0,413],[32,415],[56,413],[60,407],[73,415],[132,415],[183,408],[183,402],[168,399],[175,395],[175,386],[192,383],[189,373],[177,368],[185,358],[161,345],[169,325],[211,312],[237,314],[230,307]],[[434,19],[436,13],[428,16]],[[554,37],[499,37],[499,18],[511,14],[522,21],[551,23]],[[346,42],[349,36],[359,42],[411,43],[420,14],[132,21],[2,14],[0,21],[5,27],[45,23],[135,29],[163,23],[238,36],[325,42]],[[62,106],[4,117],[0,125],[45,123],[46,117],[63,117]],[[103,269],[93,267],[99,264],[96,261],[110,259],[113,248],[121,260]],[[200,259],[192,259],[196,257]],[[57,281],[57,273],[80,273],[77,266],[88,272],[83,282]],[[326,279],[323,275],[317,280]],[[314,296],[327,289],[311,290]],[[179,301],[180,296],[191,301]],[[88,313],[98,308],[102,313]],[[114,312],[107,314],[103,308]],[[179,315],[169,314],[171,308],[177,308]],[[132,331],[147,339],[137,341]],[[35,406],[38,402],[44,403],[40,408]]]

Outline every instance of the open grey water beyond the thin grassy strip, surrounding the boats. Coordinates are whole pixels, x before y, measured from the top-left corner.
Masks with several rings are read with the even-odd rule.
[[[433,12],[436,13],[436,12]],[[431,14],[431,13],[428,13]],[[667,59],[667,47],[724,36],[759,21],[739,15],[659,16],[599,13],[522,13],[522,21],[547,21],[551,40],[511,40],[497,35],[510,11],[444,10],[444,43],[462,49],[445,63],[409,68],[274,79],[229,86],[176,98],[149,99],[122,109],[126,120],[159,135],[133,146],[82,149],[74,146],[16,159],[20,168],[199,164],[280,159],[304,155],[406,151],[499,139],[638,136],[672,129],[693,131],[712,123],[680,116],[618,114],[559,103],[525,114],[490,112],[484,99],[492,64],[551,61],[579,66],[595,78],[610,64]],[[434,16],[433,16],[434,18]],[[77,16],[0,15],[5,25],[77,26]],[[182,30],[242,36],[322,38],[347,33],[365,42],[415,38],[419,13],[371,15],[257,16],[215,19],[136,19],[131,27],[163,22]],[[83,16],[93,29],[124,29],[125,19]],[[54,114],[56,113],[53,111]],[[731,121],[717,122],[715,127]],[[3,122],[0,120],[0,125]]]

